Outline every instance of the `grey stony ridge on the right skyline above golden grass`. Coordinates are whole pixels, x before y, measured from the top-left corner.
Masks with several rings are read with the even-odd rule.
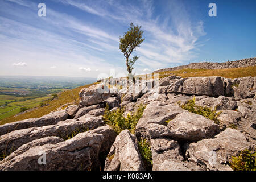
[[[247,58],[237,61],[227,61],[225,63],[211,63],[211,62],[201,62],[201,63],[191,63],[188,65],[181,65],[174,68],[164,68],[158,69],[153,73],[167,72],[167,71],[176,71],[179,69],[227,69],[227,68],[242,68],[250,67],[256,65],[256,58]]]

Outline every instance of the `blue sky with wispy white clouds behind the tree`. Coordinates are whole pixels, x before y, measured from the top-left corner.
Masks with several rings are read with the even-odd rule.
[[[209,16],[210,3],[217,16]],[[119,37],[131,22],[145,39],[133,52],[135,74],[255,57],[255,7],[255,0],[0,0],[0,75],[121,77]]]

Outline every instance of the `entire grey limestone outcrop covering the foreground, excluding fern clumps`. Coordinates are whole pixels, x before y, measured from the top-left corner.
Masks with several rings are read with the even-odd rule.
[[[0,126],[0,170],[145,170],[151,164],[140,154],[142,139],[153,170],[230,170],[230,158],[256,144],[255,77],[168,76],[122,89],[122,79],[110,82],[82,89],[79,105]],[[218,113],[218,124],[182,109],[194,98],[195,107]],[[127,118],[141,104],[135,135],[117,135],[103,120],[106,105],[122,107]]]

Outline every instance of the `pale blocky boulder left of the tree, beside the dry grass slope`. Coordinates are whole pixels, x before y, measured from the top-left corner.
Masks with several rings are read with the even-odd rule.
[[[82,106],[90,106],[100,104],[102,101],[109,98],[112,94],[105,84],[92,85],[89,88],[84,88],[79,92]]]

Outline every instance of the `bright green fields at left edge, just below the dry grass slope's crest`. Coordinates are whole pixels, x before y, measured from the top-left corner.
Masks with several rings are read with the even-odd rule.
[[[40,103],[45,102],[51,98],[52,96],[31,98],[0,95],[0,120],[18,114],[21,107],[32,109],[39,106]],[[5,105],[6,102],[8,102],[7,105]]]

